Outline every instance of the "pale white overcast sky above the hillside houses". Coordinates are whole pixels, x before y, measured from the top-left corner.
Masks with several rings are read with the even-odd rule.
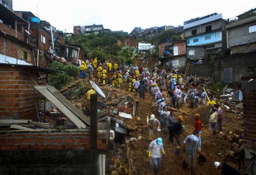
[[[65,32],[73,26],[103,24],[105,29],[131,32],[135,26],[149,28],[183,25],[183,21],[213,12],[224,19],[256,8],[256,0],[13,0],[16,11],[31,11],[41,20]]]

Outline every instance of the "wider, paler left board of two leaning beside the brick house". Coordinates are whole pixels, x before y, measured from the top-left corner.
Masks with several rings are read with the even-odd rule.
[[[52,104],[54,104],[67,118],[70,119],[79,129],[86,128],[86,125],[72,112],[68,109],[63,103],[61,103],[58,98],[52,95],[51,92],[47,90],[46,86],[34,86],[38,92],[44,95]]]

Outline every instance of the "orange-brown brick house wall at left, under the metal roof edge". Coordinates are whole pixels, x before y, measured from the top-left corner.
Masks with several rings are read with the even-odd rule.
[[[38,120],[35,104],[39,96],[30,77],[36,80],[37,72],[0,66],[0,119]]]

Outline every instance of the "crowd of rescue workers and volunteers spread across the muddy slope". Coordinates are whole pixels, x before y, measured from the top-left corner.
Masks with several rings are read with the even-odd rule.
[[[199,104],[211,106],[209,111],[209,129],[212,130],[212,135],[215,136],[217,126],[219,130],[222,130],[223,113],[221,108],[215,102],[214,97],[208,98],[205,90],[198,87],[198,77],[178,75],[178,70],[172,70],[166,72],[165,69],[161,71],[157,67],[154,67],[151,71],[143,66],[134,65],[118,65],[117,63],[111,63],[108,60],[105,63],[100,63],[97,57],[94,60],[80,61],[81,73],[80,77],[89,76],[91,79],[94,74],[97,75],[98,83],[102,85],[106,84],[107,72],[110,75],[108,84],[115,86],[116,88],[127,89],[128,92],[133,92],[135,95],[139,92],[140,100],[145,98],[145,93],[148,92],[154,105],[158,106],[157,117],[154,114],[147,116],[148,127],[148,139],[151,141],[148,148],[148,157],[152,158],[154,164],[154,174],[157,174],[160,168],[161,157],[166,155],[163,149],[163,137],[168,135],[169,130],[169,142],[174,143],[174,139],[177,143],[175,155],[181,155],[181,148],[184,150],[183,169],[188,166],[191,167],[191,174],[195,175],[195,158],[196,153],[201,154],[201,132],[204,124],[201,122],[200,114],[195,114],[195,128],[191,135],[188,135],[186,139],[182,141],[180,135],[183,133],[185,127],[183,125],[183,116],[178,116],[175,120],[174,112],[168,111],[169,106],[172,108],[180,109],[185,103],[190,103],[193,109],[198,108]],[[112,69],[113,65],[113,69]],[[96,73],[94,73],[96,70]],[[86,74],[87,73],[87,74]],[[187,89],[186,91],[183,89]],[[164,97],[163,91],[168,92],[169,102],[166,101],[167,97]],[[89,94],[95,93],[91,91]],[[88,94],[88,93],[87,93]],[[208,99],[208,102],[207,102]],[[151,107],[152,107],[151,106]],[[158,119],[159,120],[158,120]],[[221,164],[215,162],[214,166],[218,169],[222,169],[224,175],[227,175],[226,169],[232,169],[235,175],[240,173],[227,164]],[[235,173],[236,172],[236,173]]]

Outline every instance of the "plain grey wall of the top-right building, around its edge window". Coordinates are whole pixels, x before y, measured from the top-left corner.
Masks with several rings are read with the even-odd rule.
[[[256,20],[241,26],[227,29],[228,46],[238,46],[256,42],[256,32],[249,33],[249,26],[256,25]]]

